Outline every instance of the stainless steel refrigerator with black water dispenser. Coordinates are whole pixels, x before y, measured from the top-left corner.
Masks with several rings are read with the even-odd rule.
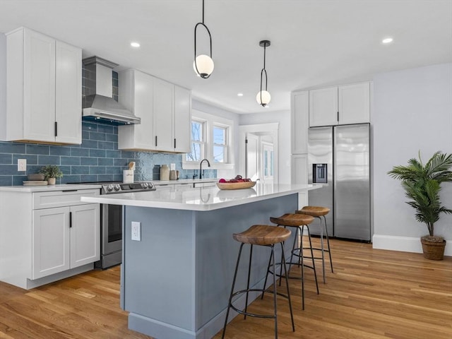
[[[331,209],[326,217],[330,236],[371,239],[369,140],[369,124],[308,131],[309,184],[326,184],[309,191],[309,205]],[[313,233],[319,234],[316,227]]]

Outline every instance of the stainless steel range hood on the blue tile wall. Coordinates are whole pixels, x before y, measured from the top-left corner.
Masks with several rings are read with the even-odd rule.
[[[83,97],[83,119],[121,125],[140,124],[140,118],[113,99],[112,69],[118,64],[100,57],[83,59],[83,64],[92,78],[85,80],[92,81],[86,85],[86,88],[92,88],[92,93]]]

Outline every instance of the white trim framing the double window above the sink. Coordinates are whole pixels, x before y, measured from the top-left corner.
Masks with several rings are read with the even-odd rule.
[[[204,121],[205,124],[206,133],[204,141],[204,154],[206,159],[210,162],[210,167],[204,167],[204,169],[234,169],[233,162],[213,162],[213,126],[221,126],[227,128],[226,140],[229,144],[227,145],[226,160],[234,160],[234,145],[232,144],[234,121],[218,117],[213,114],[208,114],[206,112],[198,111],[197,109],[191,110],[191,120]],[[185,160],[184,156],[182,160],[182,169],[199,169],[199,162],[188,162]]]

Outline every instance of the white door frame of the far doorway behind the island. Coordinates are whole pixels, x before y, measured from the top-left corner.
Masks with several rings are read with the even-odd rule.
[[[279,123],[274,122],[270,124],[253,124],[253,125],[241,125],[239,126],[239,173],[245,173],[245,160],[246,160],[246,133],[268,133],[268,135],[273,138],[273,147],[274,147],[274,184],[278,184],[278,130]],[[262,150],[259,145],[258,147],[258,157],[262,157]]]

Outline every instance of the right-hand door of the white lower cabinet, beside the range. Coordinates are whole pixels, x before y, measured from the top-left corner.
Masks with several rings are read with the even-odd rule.
[[[71,206],[71,268],[100,260],[100,205]]]

